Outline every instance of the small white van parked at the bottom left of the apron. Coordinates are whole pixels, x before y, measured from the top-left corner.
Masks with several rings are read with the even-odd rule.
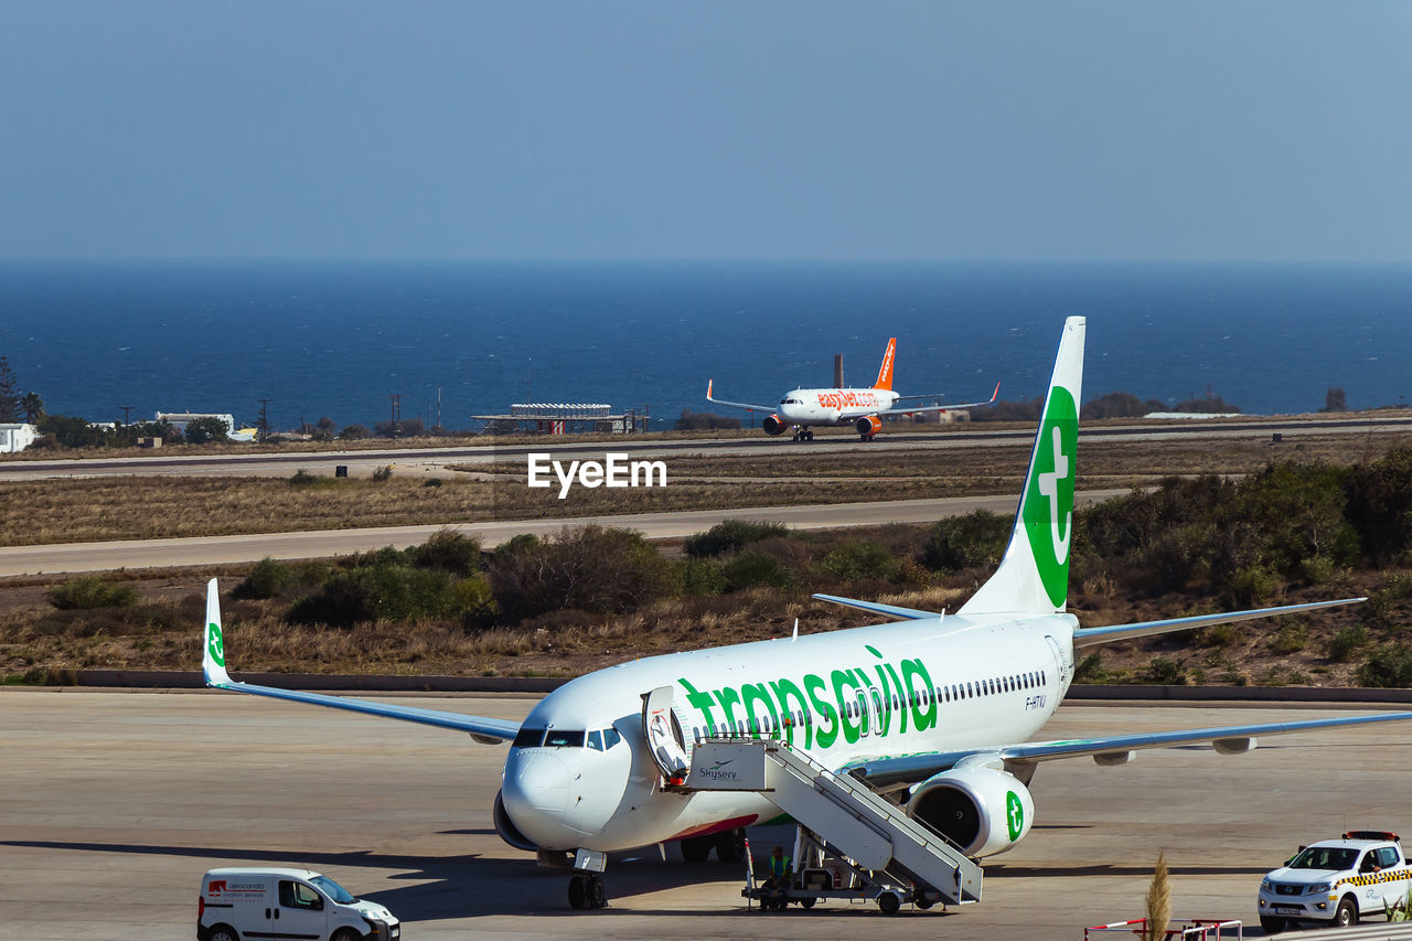
[[[397,941],[402,924],[308,869],[212,869],[201,877],[198,941]]]

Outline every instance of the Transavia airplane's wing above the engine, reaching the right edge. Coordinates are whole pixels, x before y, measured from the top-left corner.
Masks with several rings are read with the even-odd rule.
[[[1007,764],[1029,764],[1052,762],[1065,757],[1091,757],[1099,764],[1123,764],[1139,749],[1161,749],[1178,745],[1209,743],[1220,754],[1238,754],[1255,747],[1257,736],[1291,735],[1316,729],[1337,729],[1354,725],[1378,725],[1384,722],[1406,722],[1412,712],[1382,712],[1378,715],[1353,715],[1337,719],[1303,719],[1299,722],[1265,722],[1255,725],[1226,725],[1207,729],[1183,729],[1176,732],[1144,732],[1134,735],[1110,735],[1097,739],[1070,739],[1063,742],[1025,742],[998,747],[966,749],[960,752],[931,752],[904,757],[856,762],[844,771],[866,780],[874,787],[911,784],[925,781],[939,771],[955,767],[962,759],[973,754],[995,756]]]

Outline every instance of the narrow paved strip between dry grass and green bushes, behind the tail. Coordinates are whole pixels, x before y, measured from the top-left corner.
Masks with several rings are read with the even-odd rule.
[[[1127,490],[1089,490],[1075,495],[1075,502],[1082,506],[1121,493],[1127,493]],[[41,572],[104,572],[114,568],[223,565],[253,562],[265,557],[328,558],[378,550],[384,545],[397,548],[419,545],[443,528],[479,535],[489,548],[500,545],[520,533],[546,535],[558,533],[566,526],[587,523],[638,530],[652,540],[683,538],[709,530],[723,520],[771,520],[799,530],[877,526],[880,523],[931,523],[943,516],[959,516],[981,507],[994,513],[1014,514],[1018,499],[1015,496],[939,497],[881,503],[820,503],[545,520],[497,520],[450,526],[391,526],[366,530],[210,535],[179,540],[7,545],[0,547],[0,576]]]

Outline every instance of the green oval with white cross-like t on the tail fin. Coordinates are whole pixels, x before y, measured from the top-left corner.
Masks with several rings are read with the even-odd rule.
[[[1079,410],[1063,386],[1049,391],[1049,407],[1035,446],[1025,493],[1025,533],[1039,579],[1055,608],[1069,593],[1069,540],[1073,535],[1073,476],[1079,451]]]

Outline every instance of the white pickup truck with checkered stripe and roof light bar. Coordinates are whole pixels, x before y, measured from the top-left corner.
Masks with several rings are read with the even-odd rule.
[[[1412,866],[1396,834],[1350,831],[1300,849],[1260,883],[1260,925],[1295,921],[1357,924],[1408,897]]]

